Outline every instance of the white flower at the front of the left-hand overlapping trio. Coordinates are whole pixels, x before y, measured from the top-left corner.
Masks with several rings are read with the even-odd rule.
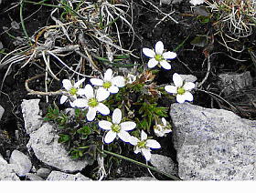
[[[89,121],[92,121],[96,117],[96,112],[100,112],[102,115],[109,115],[110,109],[101,103],[110,96],[110,93],[100,87],[95,91],[91,85],[86,85],[82,90],[82,95],[86,98],[78,98],[73,102],[74,107],[88,107],[88,113],[86,115]]]

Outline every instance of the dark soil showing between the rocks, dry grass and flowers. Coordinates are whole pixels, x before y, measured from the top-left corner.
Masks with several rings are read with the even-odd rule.
[[[15,20],[18,23],[20,22],[20,5],[17,5],[19,1],[12,2],[13,4],[10,4],[9,1],[3,0],[2,4],[0,5],[0,41],[4,45],[5,53],[9,53],[17,47],[13,44],[15,39],[9,35],[25,36],[21,26],[19,29],[14,29],[11,27],[12,20]],[[56,4],[54,0],[47,1],[47,3]],[[174,14],[171,16],[175,18],[176,21],[178,21],[178,24],[176,24],[169,17],[166,17],[162,22],[160,22],[160,20],[165,15],[161,14],[161,12],[158,11],[155,6],[166,14],[174,11]],[[132,56],[132,63],[134,61],[139,64],[147,63],[148,59],[142,54],[143,47],[154,47],[157,41],[162,41],[166,50],[173,51],[177,46],[182,44],[188,36],[183,46],[176,50],[177,58],[171,62],[172,69],[169,71],[165,71],[163,68],[159,69],[160,71],[155,77],[155,82],[157,85],[171,83],[172,75],[175,72],[178,74],[192,74],[197,76],[198,82],[202,81],[202,79],[206,76],[208,68],[207,62],[204,64],[204,61],[206,60],[206,56],[203,53],[204,49],[208,50],[209,55],[213,53],[219,53],[210,56],[211,71],[208,76],[208,80],[204,84],[205,89],[209,87],[211,92],[219,94],[219,87],[216,85],[216,81],[218,80],[217,75],[222,72],[242,73],[243,71],[247,70],[251,72],[252,77],[255,77],[255,66],[251,60],[251,55],[247,51],[248,47],[252,47],[252,51],[255,51],[255,31],[251,36],[241,38],[240,42],[229,45],[230,47],[236,47],[238,50],[240,50],[240,47],[244,46],[244,51],[240,53],[232,52],[230,50],[228,51],[225,46],[220,45],[219,42],[222,42],[222,39],[218,35],[214,36],[213,45],[208,44],[206,46],[193,46],[190,44],[190,42],[195,39],[197,35],[208,35],[211,37],[216,33],[216,31],[213,27],[213,21],[209,21],[205,24],[200,23],[197,17],[191,12],[190,6],[191,5],[187,1],[182,1],[181,3],[175,5],[162,6],[159,5],[158,0],[133,1],[133,28],[135,31],[135,39],[131,50],[134,50],[133,55],[141,56],[141,59]],[[50,6],[24,4],[23,18],[26,18],[25,26],[28,36],[33,36],[42,26],[54,24],[54,22],[49,17],[52,9],[53,7]],[[9,35],[3,29],[4,26],[9,29]],[[129,46],[131,46],[131,37],[121,36],[121,38],[123,45],[127,46],[124,46],[124,48],[128,49]],[[4,56],[5,55],[1,55],[0,53],[0,59]],[[246,60],[246,62],[234,60],[229,56],[240,60]],[[40,59],[42,60],[42,58]],[[71,56],[65,57],[66,62],[75,59],[76,58]],[[42,62],[41,64],[44,63]],[[8,76],[6,76],[2,92],[0,93],[0,105],[5,108],[5,114],[0,121],[0,153],[3,155],[3,157],[5,157],[6,160],[8,160],[10,152],[12,152],[14,149],[18,149],[29,155],[26,147],[28,136],[25,132],[20,104],[22,103],[23,99],[38,98],[38,96],[27,95],[25,81],[30,77],[44,73],[44,71],[42,71],[42,69],[38,66],[27,65],[24,68],[20,68],[22,65],[23,64],[21,63],[16,63],[11,67],[11,72]],[[0,83],[3,82],[6,70],[7,66],[0,69]],[[59,66],[52,66],[52,70],[54,72],[58,72]],[[59,78],[63,79],[67,76],[67,74],[63,73],[63,75],[59,76]],[[29,86],[32,89],[44,91],[43,77],[42,81],[33,81]],[[53,80],[51,82],[50,90],[56,91],[60,88],[60,81],[58,82]],[[214,100],[212,96],[209,96],[208,94],[195,92],[193,95],[193,104],[195,105],[201,107],[222,107],[224,109],[231,110],[229,105],[223,102],[219,104],[219,102]],[[49,103],[46,103],[45,96],[39,97],[41,99],[40,107],[43,110],[44,115],[46,115],[48,112],[48,105],[52,105],[53,102],[56,102],[60,109],[68,107],[68,105],[59,105],[59,96],[49,96]],[[226,99],[232,99],[236,102],[235,96]],[[175,101],[163,100],[162,104],[165,107],[169,107],[173,102]],[[240,117],[250,119],[255,119],[256,117],[255,108],[254,113],[250,110],[245,112],[242,110],[242,108],[240,108],[239,112],[235,111],[234,113],[238,114]],[[171,120],[170,117],[168,117],[168,120]],[[8,137],[6,137],[5,132],[7,133]],[[172,157],[176,162],[176,150],[172,145],[172,135],[169,134],[167,137],[155,137],[155,139],[159,141],[159,143],[162,145],[162,148],[159,150],[154,150],[154,153]],[[134,158],[144,163],[144,157],[141,155],[134,155],[133,149],[128,145],[123,145],[122,155],[125,157]],[[36,166],[36,168],[44,166],[44,164],[40,163],[34,155],[30,154],[29,156],[32,157],[33,165]],[[114,160],[112,160],[112,163],[109,163],[109,166],[111,167],[109,168],[110,173],[107,179],[150,176],[146,168],[138,167],[125,160],[118,160],[119,164],[117,164]],[[97,163],[95,162],[94,165],[83,169],[81,173],[87,177],[93,178],[93,172],[95,172],[93,171],[93,168],[96,167]],[[153,172],[153,174],[158,179],[168,179],[155,172]]]

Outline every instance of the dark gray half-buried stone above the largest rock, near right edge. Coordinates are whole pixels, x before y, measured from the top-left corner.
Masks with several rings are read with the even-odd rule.
[[[246,86],[252,86],[252,77],[249,71],[241,74],[225,73],[219,75],[219,78],[218,85],[226,96],[232,91],[240,91]]]

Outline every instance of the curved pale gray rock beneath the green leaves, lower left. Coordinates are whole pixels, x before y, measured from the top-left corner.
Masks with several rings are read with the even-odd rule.
[[[88,165],[86,160],[72,159],[65,146],[58,143],[58,139],[55,127],[47,122],[30,134],[27,147],[33,149],[40,161],[61,171],[76,172]]]

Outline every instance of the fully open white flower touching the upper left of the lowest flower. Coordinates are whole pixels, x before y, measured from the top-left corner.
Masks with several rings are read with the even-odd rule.
[[[105,143],[111,143],[116,136],[120,137],[124,142],[129,142],[130,134],[127,131],[133,130],[136,124],[133,121],[125,121],[120,123],[122,119],[122,111],[119,108],[114,109],[112,113],[112,122],[101,120],[99,127],[104,130],[108,130],[104,141]]]

